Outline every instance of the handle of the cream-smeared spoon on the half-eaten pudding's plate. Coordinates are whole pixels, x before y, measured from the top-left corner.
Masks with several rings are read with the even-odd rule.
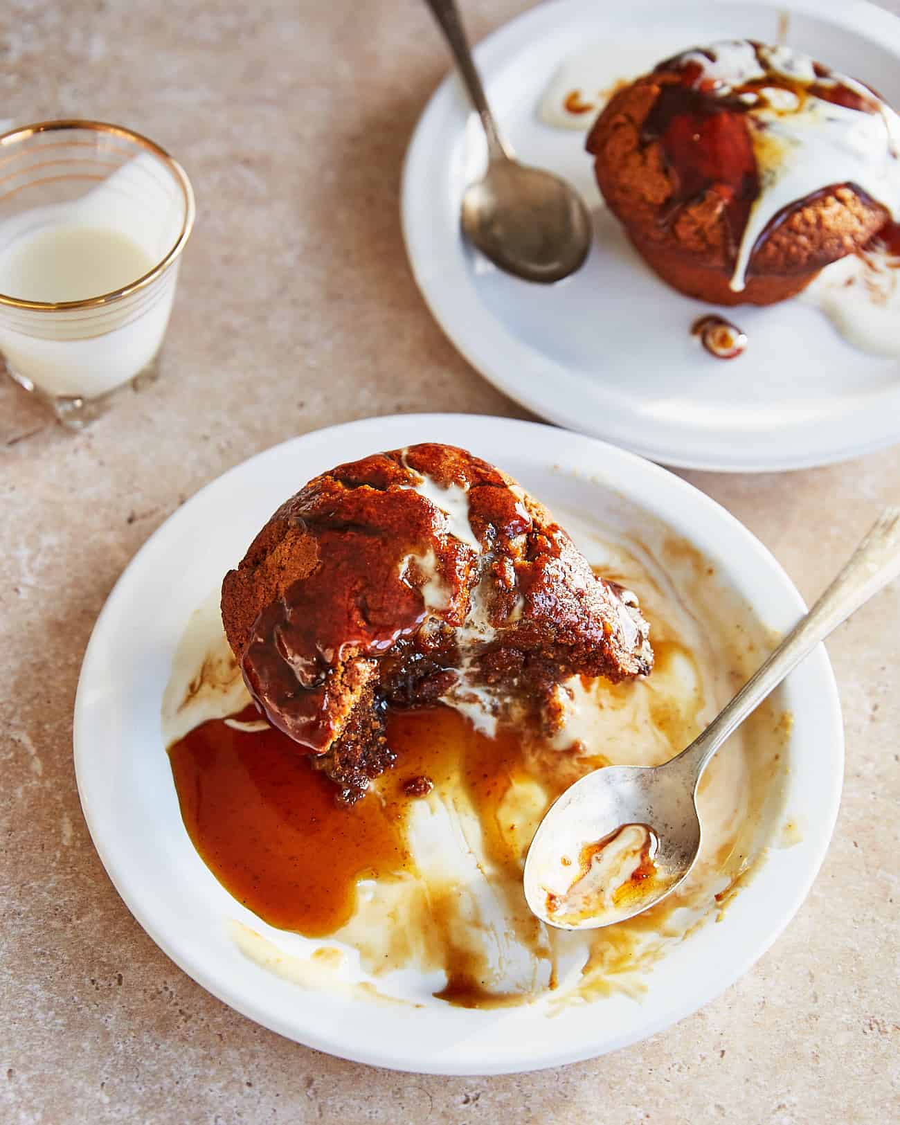
[[[731,702],[686,750],[673,759],[673,764],[678,763],[699,782],[706,763],[731,731],[756,710],[817,645],[898,576],[900,507],[888,507],[809,613],[798,621]]]

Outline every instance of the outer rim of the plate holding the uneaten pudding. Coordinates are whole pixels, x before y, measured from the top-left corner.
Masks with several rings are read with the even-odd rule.
[[[655,2],[656,0],[632,0],[632,9],[642,6],[650,10]],[[847,0],[714,0],[714,3],[718,7],[756,4],[773,11],[796,11],[813,18],[830,20],[837,26],[858,29],[871,36],[881,37],[889,50],[893,51],[898,65],[900,65],[900,16],[876,7],[870,0],[850,0],[850,2]],[[514,55],[531,40],[534,35],[533,29],[540,28],[544,24],[559,22],[566,18],[567,9],[579,16],[585,12],[595,12],[598,29],[604,26],[603,21],[608,18],[595,9],[593,0],[554,0],[552,3],[538,4],[526,9],[502,24],[477,44],[475,57],[482,72],[489,75],[493,68],[502,65],[506,56]],[[726,452],[713,456],[694,454],[690,450],[685,452],[686,439],[681,443],[677,441],[673,443],[672,434],[656,443],[644,442],[634,420],[630,423],[618,421],[613,425],[606,421],[605,424],[592,426],[588,431],[583,428],[578,411],[566,408],[565,394],[542,397],[530,386],[522,387],[514,377],[506,374],[511,366],[536,368],[544,381],[554,378],[568,380],[577,378],[577,375],[572,368],[547,357],[537,348],[514,335],[503,322],[490,313],[474,289],[469,294],[460,286],[451,288],[442,284],[446,270],[454,270],[459,264],[458,248],[461,245],[461,240],[453,243],[442,254],[443,268],[434,268],[436,258],[433,213],[430,209],[423,209],[421,184],[424,182],[425,171],[433,170],[435,138],[432,133],[434,125],[440,122],[441,129],[444,129],[448,116],[458,118],[458,79],[451,69],[423,107],[406,147],[400,177],[400,228],[410,269],[431,315],[456,350],[494,387],[540,418],[586,433],[601,441],[619,444],[640,457],[673,468],[708,472],[795,471],[826,465],[838,465],[891,448],[900,442],[900,430],[897,428],[891,430],[889,425],[885,425],[874,436],[863,434],[854,441],[843,442],[838,439],[828,449],[821,448],[804,453],[794,452],[791,446],[784,449],[780,456],[770,456],[768,447],[764,446],[765,451],[762,453],[755,448],[750,453],[741,456],[731,456]],[[470,287],[469,271],[465,266],[464,274],[467,287]],[[459,278],[456,280],[458,281]],[[464,302],[465,307],[454,312],[460,300]],[[462,324],[467,326],[461,327]],[[476,325],[475,330],[471,327],[472,324]],[[900,385],[892,388],[890,394],[900,404]],[[891,413],[886,407],[879,412],[880,416],[883,417],[888,417]],[[871,418],[871,411],[863,417]],[[814,426],[807,425],[807,430],[811,429]],[[796,433],[799,432],[796,431]]]

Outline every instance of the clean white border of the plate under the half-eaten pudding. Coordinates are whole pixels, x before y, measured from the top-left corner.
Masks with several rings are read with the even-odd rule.
[[[367,418],[305,434],[226,472],[155,532],[119,578],[84,656],[74,754],[84,817],[110,879],[150,936],[204,988],[299,1043],[360,1062],[431,1073],[504,1073],[593,1058],[681,1019],[731,984],[800,906],[834,827],[843,732],[834,676],[817,650],[782,688],[793,714],[785,809],[802,839],[774,849],[718,925],[674,946],[636,1000],[611,996],[549,1018],[539,1005],[467,1010],[441,1001],[379,1006],[305,990],[249,960],[230,935],[243,921],[272,930],[216,881],[181,821],[162,741],[160,704],[192,611],[216,590],[271,512],[335,464],[418,441],[464,446],[518,477],[551,507],[583,520],[615,494],[637,526],[664,521],[783,630],[803,610],[768,551],[713,501],[680,478],[592,438],[475,415]],[[633,515],[632,515],[633,514]],[[327,857],[323,857],[326,862]],[[299,940],[299,938],[297,938]]]

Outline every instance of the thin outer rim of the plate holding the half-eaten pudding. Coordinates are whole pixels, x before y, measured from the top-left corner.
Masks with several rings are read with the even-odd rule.
[[[141,901],[138,891],[129,885],[128,879],[125,878],[123,872],[119,870],[116,856],[110,853],[110,849],[107,846],[108,842],[105,838],[104,827],[97,814],[98,810],[92,807],[89,794],[90,770],[87,755],[89,753],[89,744],[91,740],[89,730],[91,713],[88,696],[93,686],[92,678],[94,676],[94,665],[97,665],[101,659],[107,622],[116,613],[118,603],[123,600],[127,601],[130,596],[129,587],[135,583],[135,580],[137,580],[143,560],[146,559],[152,551],[156,550],[159,544],[164,542],[166,536],[171,536],[173,533],[173,523],[177,525],[178,523],[190,521],[194,512],[202,506],[205,497],[208,496],[213,489],[225,488],[228,482],[234,479],[236,475],[245,471],[245,467],[251,462],[262,461],[266,458],[278,458],[279,456],[284,456],[288,449],[299,447],[303,442],[309,439],[323,441],[338,432],[343,434],[349,433],[353,436],[359,434],[363,438],[371,434],[372,439],[377,441],[378,430],[386,423],[397,424],[400,428],[408,426],[412,433],[418,431],[420,434],[428,433],[429,428],[434,426],[471,426],[475,424],[476,428],[482,428],[484,430],[500,426],[501,429],[506,429],[507,431],[516,431],[522,435],[523,440],[525,438],[531,438],[532,446],[537,446],[540,442],[540,434],[538,431],[543,433],[544,436],[551,436],[551,440],[559,441],[565,438],[566,441],[573,441],[575,444],[590,449],[594,454],[596,454],[597,462],[603,466],[604,471],[611,467],[610,462],[612,462],[612,467],[615,469],[621,469],[622,467],[626,469],[631,468],[639,475],[649,475],[650,479],[656,483],[665,483],[665,487],[663,488],[664,492],[665,488],[674,488],[676,493],[682,493],[683,495],[690,494],[692,502],[694,504],[700,504],[701,508],[704,508],[713,520],[723,520],[731,524],[732,530],[737,531],[737,533],[744,539],[748,550],[752,550],[756,555],[757,559],[765,564],[768,574],[780,583],[782,593],[793,603],[798,612],[802,612],[804,608],[800,594],[796,592],[796,588],[790,577],[783,570],[774,556],[772,556],[763,543],[726,508],[711,497],[706,496],[700,489],[695,488],[693,485],[674,474],[668,472],[666,469],[663,469],[652,462],[646,461],[633,453],[619,449],[618,447],[602,442],[598,439],[583,434],[568,433],[542,423],[469,414],[388,415],[363,418],[357,422],[343,423],[322,430],[309,431],[308,433],[288,439],[285,442],[276,444],[251,458],[248,458],[245,461],[233,466],[220,476],[202,486],[197,493],[194,494],[194,496],[190,497],[190,500],[178,507],[153,532],[152,536],[150,536],[145,543],[129,560],[108,595],[104,608],[98,615],[86,649],[81,674],[79,677],[73,719],[73,756],[75,777],[82,811],[94,848],[97,849],[107,874],[128,910],[154,940],[154,943],[183,972],[197,981],[198,984],[205,988],[213,996],[217,997],[219,1000],[240,1011],[248,1018],[253,1019],[255,1023],[259,1023],[262,1026],[286,1036],[287,1038],[303,1043],[304,1045],[310,1046],[315,1050],[325,1051],[330,1054],[354,1062],[384,1066],[404,1072],[471,1076],[516,1073],[521,1071],[562,1065],[569,1062],[593,1059],[600,1054],[608,1053],[609,1051],[619,1050],[623,1046],[630,1045],[631,1043],[642,1041],[649,1035],[652,1035],[656,1032],[693,1014],[742,976],[750,965],[753,965],[766,952],[766,950],[771,947],[772,943],[780,936],[785,926],[794,917],[798,909],[807,898],[807,894],[809,893],[809,890],[819,872],[829,846],[837,818],[844,763],[844,728],[840,712],[840,701],[834,672],[824,647],[820,647],[820,649],[812,654],[808,660],[816,668],[816,672],[821,680],[821,700],[817,705],[829,712],[827,729],[832,736],[834,774],[830,778],[831,784],[828,792],[827,808],[825,809],[825,814],[817,827],[818,842],[816,853],[806,870],[804,876],[793,885],[790,907],[785,908],[782,916],[775,922],[770,925],[765,940],[757,943],[754,950],[739,962],[731,962],[728,972],[723,975],[723,978],[717,978],[712,988],[699,988],[691,1002],[677,1006],[675,1015],[672,1015],[669,1011],[663,1011],[656,1020],[645,1024],[637,1034],[626,1036],[620,1041],[610,1043],[609,1045],[597,1047],[596,1042],[591,1041],[586,1045],[580,1045],[577,1048],[561,1051],[554,1054],[543,1053],[537,1059],[529,1054],[523,1056],[520,1062],[515,1064],[501,1062],[492,1065],[489,1062],[479,1062],[472,1065],[470,1062],[465,1061],[457,1064],[454,1060],[450,1059],[422,1065],[416,1063],[415,1060],[396,1059],[385,1055],[377,1048],[377,1046],[375,1048],[346,1048],[342,1045],[340,1040],[334,1040],[328,1035],[316,1034],[315,1030],[307,1028],[298,1029],[296,1025],[291,1025],[289,1022],[281,1018],[276,1018],[267,1011],[254,1007],[252,1002],[248,1002],[242,997],[236,997],[234,992],[230,990],[227,984],[223,984],[223,982],[218,980],[214,973],[206,971],[198,957],[186,955],[184,951],[178,947],[178,943],[174,939],[170,939],[170,935],[162,933],[152,917],[152,911],[148,912],[147,909],[145,909],[145,904]],[[360,456],[362,454],[360,453]],[[632,502],[639,504],[637,498],[633,498]],[[286,987],[292,988],[295,986],[286,984]],[[515,1010],[519,1011],[526,1009]]]

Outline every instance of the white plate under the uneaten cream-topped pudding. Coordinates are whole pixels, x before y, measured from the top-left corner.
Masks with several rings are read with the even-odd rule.
[[[691,468],[802,468],[900,440],[900,363],[850,348],[798,300],[727,312],[749,348],[728,362],[708,356],[688,328],[713,306],[650,272],[602,206],[584,135],[537,116],[560,63],[593,44],[603,87],[694,44],[775,42],[782,11],[790,45],[900,106],[900,20],[856,0],[558,0],[479,45],[488,96],[519,156],[559,172],[595,212],[586,264],[556,286],[508,277],[462,240],[460,200],[484,166],[484,138],[456,78],[436,91],[404,170],[406,246],[438,322],[501,390],[560,425]]]

